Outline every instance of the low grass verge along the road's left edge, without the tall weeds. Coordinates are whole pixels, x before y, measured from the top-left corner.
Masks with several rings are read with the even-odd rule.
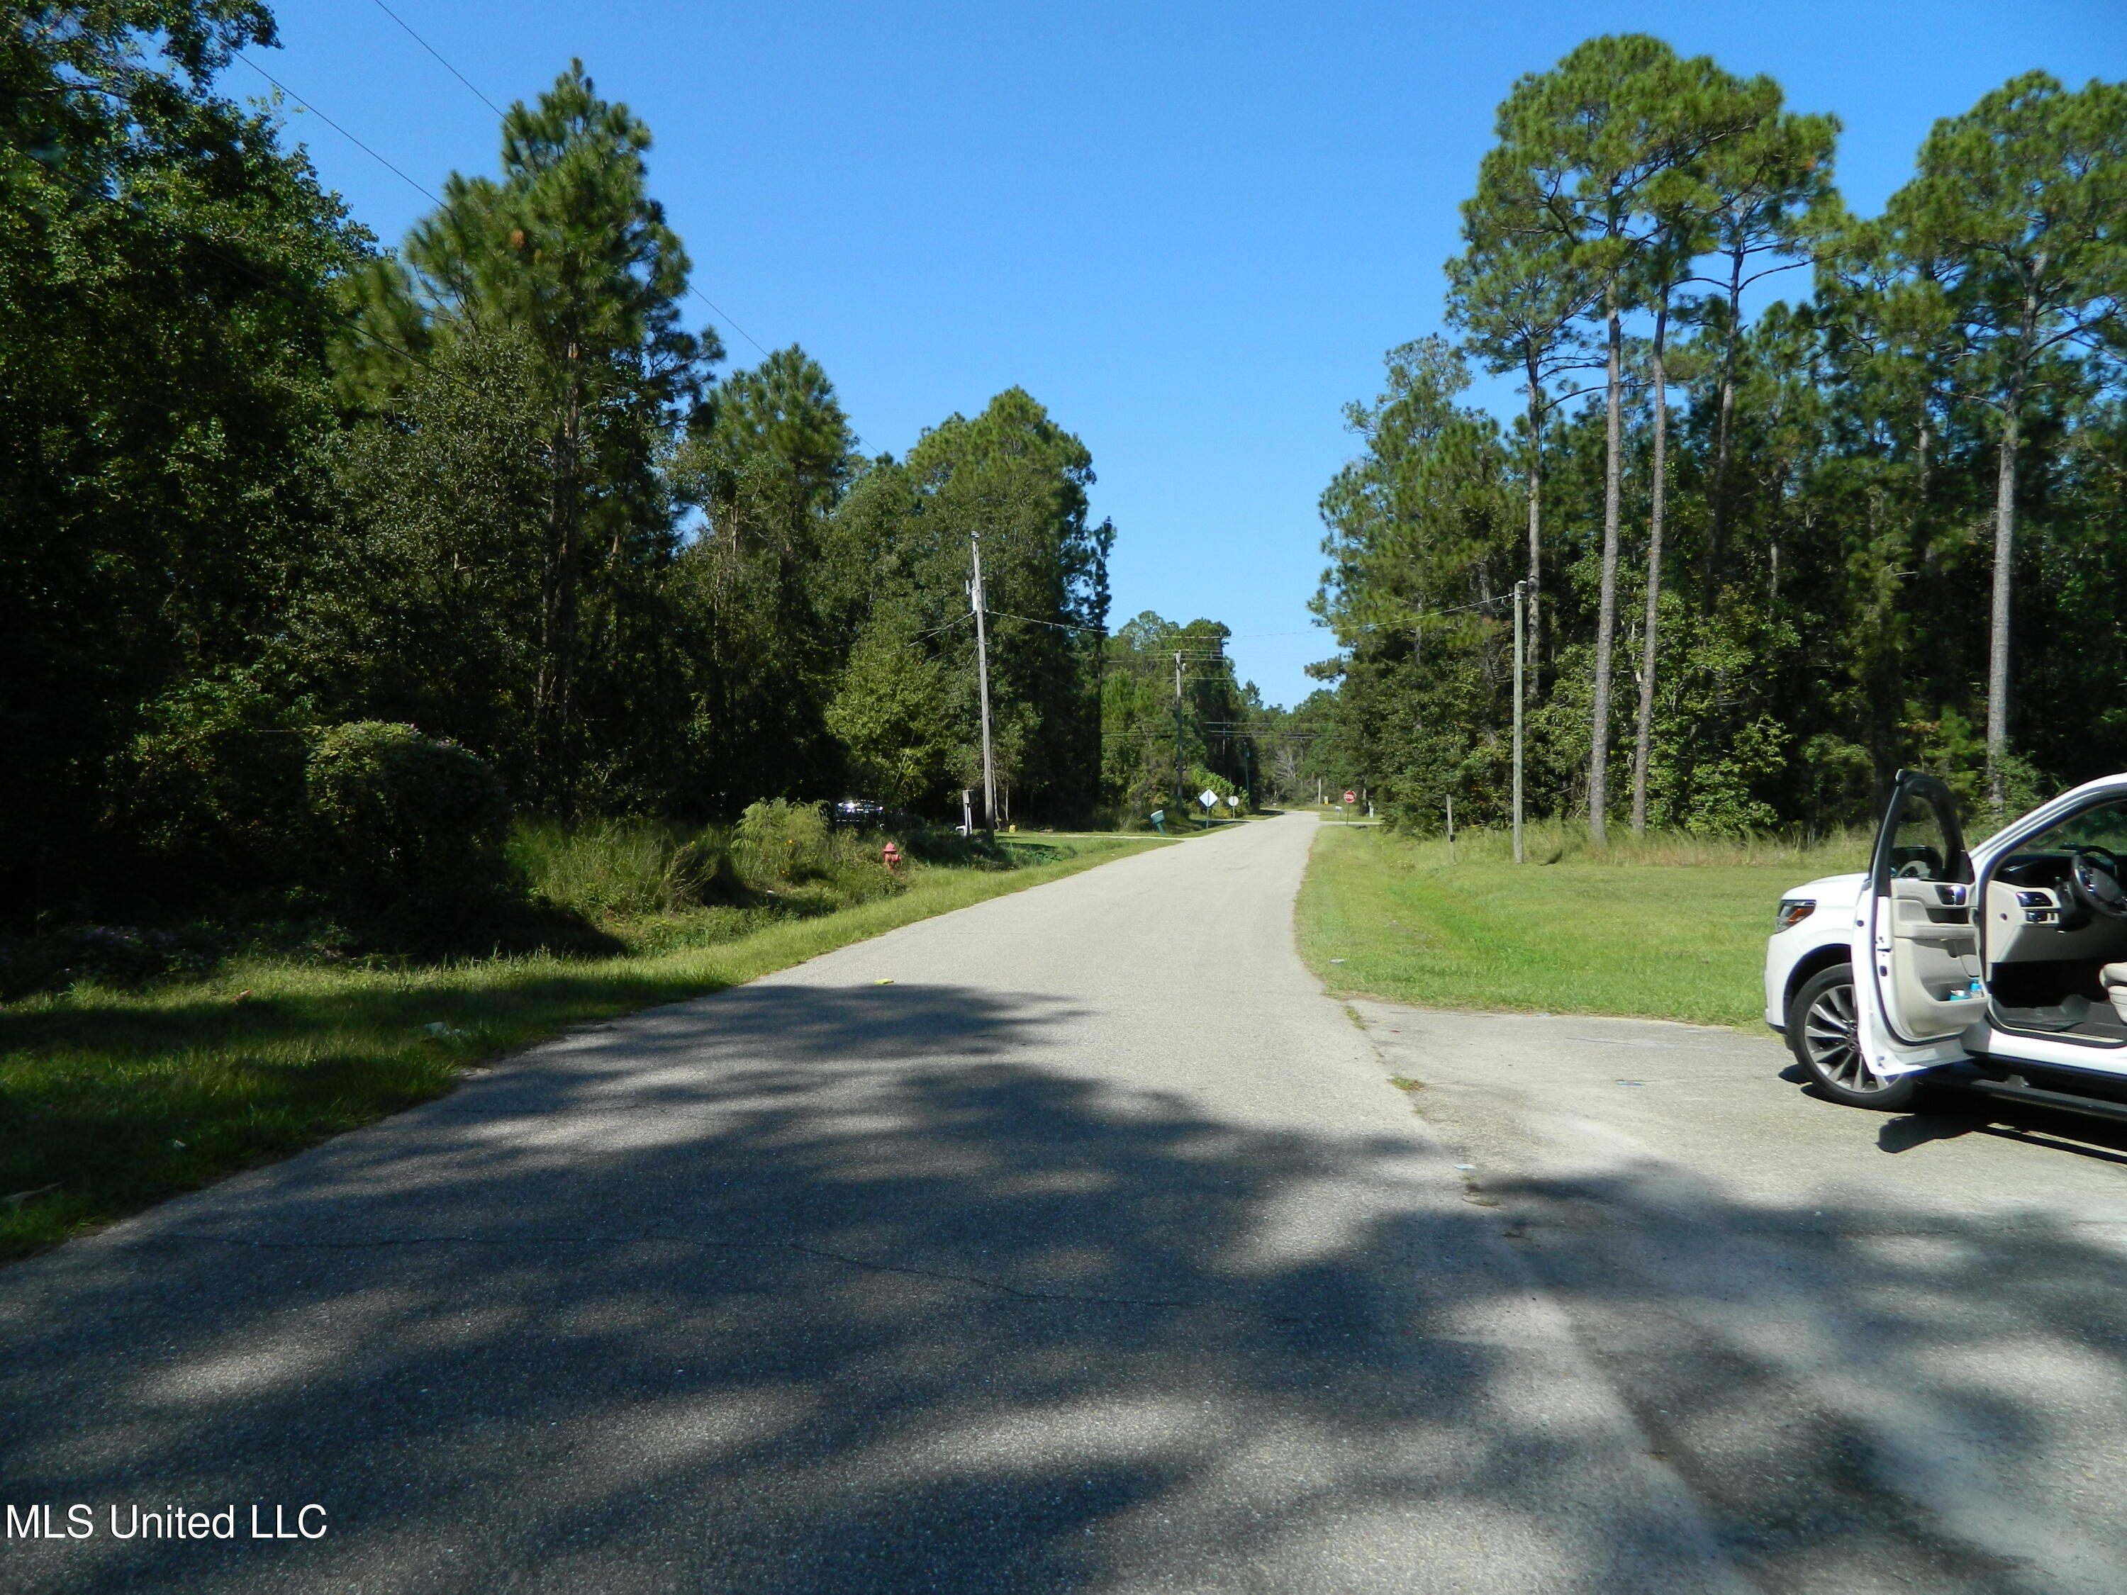
[[[570,1025],[721,991],[1146,846],[1161,844],[1008,838],[1017,868],[917,863],[900,889],[847,908],[798,889],[787,906],[615,919],[619,957],[249,959],[204,980],[0,1006],[0,1259],[440,1095],[459,1070]],[[642,874],[661,868],[647,855]]]

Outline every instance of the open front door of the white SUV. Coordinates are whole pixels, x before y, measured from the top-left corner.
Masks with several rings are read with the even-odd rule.
[[[1957,800],[1899,770],[1861,900],[1868,968],[1855,970],[1857,1040],[1878,1076],[1967,1057],[1963,1031],[1987,1012],[1970,895]]]

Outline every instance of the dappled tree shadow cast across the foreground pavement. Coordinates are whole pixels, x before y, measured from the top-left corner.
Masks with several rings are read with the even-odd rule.
[[[1663,1465],[1621,1463],[1578,1404],[1521,1265],[1582,1297],[1612,1363],[1663,1355],[1674,1297],[1746,1319],[1802,1312],[1799,1291],[1885,1359],[1987,1329],[1751,1257],[1597,1270],[1593,1246],[1580,1276],[1555,1238],[1640,1193],[1476,1206],[1423,1185],[1414,1140],[1236,1125],[1066,1072],[1051,1042],[1076,1014],[742,987],[11,1270],[0,1499],[321,1501],[332,1535],[6,1546],[0,1586],[1463,1591],[1512,1550],[1514,1589],[1638,1595],[1699,1586],[1704,1546]],[[1657,1219],[1663,1246],[1704,1248],[1689,1214]],[[1719,1219],[1757,1225],[1757,1263],[1791,1265],[1802,1231],[1880,1242],[1859,1212]],[[1957,1291],[1995,1265],[1976,1236],[1933,1240],[1878,1278]],[[2099,1331],[2121,1259],[2033,1229],[2019,1270],[2118,1376]],[[1931,1591],[2021,1589],[1885,1487],[1895,1435],[1795,1406],[1806,1380],[1748,1333],[1691,1344],[1640,1370],[1663,1395],[1640,1418],[1699,1459],[1759,1582],[1829,1589],[1921,1546]],[[1984,1378],[1933,1399],[2010,1474],[2050,1457]],[[1753,1446],[1819,1461],[1753,1497]],[[1850,1510],[1808,1499],[1823,1455]]]

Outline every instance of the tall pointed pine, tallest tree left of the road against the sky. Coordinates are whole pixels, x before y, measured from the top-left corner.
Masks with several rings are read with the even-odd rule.
[[[649,130],[600,100],[572,62],[536,104],[504,115],[502,177],[451,174],[404,257],[359,283],[368,323],[417,353],[481,328],[519,332],[536,351],[547,506],[532,795],[562,810],[625,736],[587,725],[600,698],[587,670],[627,668],[613,649],[676,551],[661,455],[723,353],[713,332],[681,323],[689,262],[649,198]],[[349,340],[342,353],[351,389],[370,402],[406,381],[374,345]],[[606,657],[587,659],[600,647]]]

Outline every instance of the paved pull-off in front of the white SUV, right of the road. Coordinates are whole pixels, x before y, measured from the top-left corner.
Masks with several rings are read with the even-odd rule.
[[[2127,1134],[1840,1108],[1719,1029],[1357,1010],[1755,1584],[2127,1591]]]

